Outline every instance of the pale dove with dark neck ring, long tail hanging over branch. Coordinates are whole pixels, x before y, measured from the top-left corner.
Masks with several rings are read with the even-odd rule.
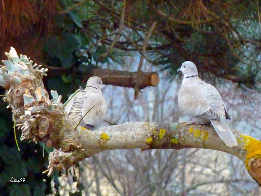
[[[178,94],[180,108],[189,116],[210,120],[227,146],[237,146],[237,140],[226,122],[231,118],[217,89],[198,77],[197,67],[191,61],[182,63],[178,71],[184,75]]]

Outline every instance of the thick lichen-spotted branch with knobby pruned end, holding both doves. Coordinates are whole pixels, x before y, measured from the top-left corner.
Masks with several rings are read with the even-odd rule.
[[[14,48],[6,53],[8,60],[0,70],[0,85],[6,89],[4,101],[12,109],[13,120],[22,130],[21,140],[43,141],[55,150],[49,155],[48,175],[54,169],[68,169],[78,161],[111,149],[183,149],[205,148],[224,151],[241,159],[249,174],[261,183],[261,142],[233,131],[238,146],[229,148],[212,126],[194,123],[128,122],[101,127],[97,131],[77,127],[69,119],[52,91],[44,88],[42,77],[48,71],[32,64],[26,56],[18,57]],[[151,160],[153,161],[153,160]]]

